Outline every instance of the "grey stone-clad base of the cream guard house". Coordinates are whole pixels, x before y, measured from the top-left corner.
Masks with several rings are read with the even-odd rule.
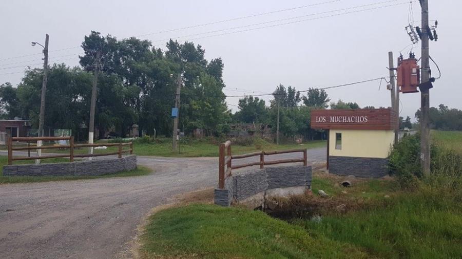
[[[386,158],[329,156],[329,172],[340,176],[374,177],[388,175]]]

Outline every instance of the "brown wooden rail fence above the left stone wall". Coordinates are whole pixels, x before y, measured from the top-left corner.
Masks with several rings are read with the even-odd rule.
[[[59,141],[59,140],[68,140],[69,144],[54,144],[47,146],[30,146],[31,141]],[[13,141],[27,141],[27,146],[24,147],[13,147]],[[124,146],[129,145],[129,149],[123,149]],[[110,153],[99,153],[99,154],[75,154],[74,149],[80,147],[98,147],[98,146],[118,146],[117,152]],[[53,148],[69,148],[69,154],[54,154],[48,156],[30,156],[30,150],[32,149],[53,149]],[[27,157],[13,157],[13,151],[27,150]],[[13,161],[18,160],[35,160],[35,159],[47,159],[47,158],[65,158],[68,157],[70,162],[74,162],[74,158],[81,157],[100,157],[100,156],[110,156],[118,155],[119,158],[122,157],[123,153],[133,154],[133,142],[127,143],[99,143],[99,144],[74,144],[74,137],[13,137],[8,138],[8,165],[12,165]]]

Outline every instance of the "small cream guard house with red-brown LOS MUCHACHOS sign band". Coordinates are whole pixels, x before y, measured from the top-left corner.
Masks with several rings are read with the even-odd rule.
[[[394,141],[397,114],[389,109],[313,110],[311,127],[328,131],[331,174],[382,177]]]

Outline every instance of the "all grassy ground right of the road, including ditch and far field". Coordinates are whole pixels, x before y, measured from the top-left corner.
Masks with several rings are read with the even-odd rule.
[[[453,154],[462,145],[460,132],[435,131],[432,137]],[[460,174],[451,177],[460,179]],[[144,258],[462,257],[462,197],[454,189],[457,185],[422,181],[403,189],[399,179],[388,178],[356,179],[352,187],[344,188],[339,186],[343,179],[317,173],[313,194],[280,199],[279,211],[268,213],[211,204],[161,210],[149,219],[140,254]],[[330,198],[319,197],[318,189]]]

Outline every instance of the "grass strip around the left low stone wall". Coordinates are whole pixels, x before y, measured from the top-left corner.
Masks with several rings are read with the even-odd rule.
[[[44,160],[46,163],[61,163],[69,162],[69,159],[52,158]],[[14,161],[14,164],[31,164],[33,160]],[[0,156],[0,184],[6,183],[31,183],[31,182],[50,182],[50,181],[68,181],[68,180],[84,180],[110,177],[129,177],[129,176],[144,176],[149,175],[152,170],[144,166],[137,166],[134,170],[121,171],[115,174],[102,176],[3,176],[3,166],[8,163],[6,156]]]

